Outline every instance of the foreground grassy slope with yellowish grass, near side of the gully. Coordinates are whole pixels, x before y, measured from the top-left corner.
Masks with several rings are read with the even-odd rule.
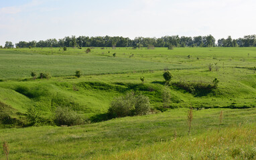
[[[256,110],[222,111],[219,134],[220,109],[194,111],[190,136],[187,109],[174,109],[76,127],[1,129],[0,139],[10,159],[255,159]]]

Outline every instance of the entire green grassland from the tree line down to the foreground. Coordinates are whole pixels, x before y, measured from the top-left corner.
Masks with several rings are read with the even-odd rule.
[[[0,49],[0,111],[11,119],[1,119],[0,139],[10,159],[256,159],[256,48],[85,51]],[[82,77],[74,77],[76,69]],[[52,78],[32,79],[32,70]],[[171,102],[162,107],[167,70]],[[209,87],[215,78],[218,85]],[[106,119],[111,101],[131,91],[149,97],[153,112]],[[29,107],[42,116],[37,127],[28,127]],[[56,127],[56,107],[76,111],[86,124]]]

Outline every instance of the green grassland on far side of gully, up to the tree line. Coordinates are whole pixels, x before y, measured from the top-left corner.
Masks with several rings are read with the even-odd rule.
[[[115,58],[111,57],[114,52],[117,53]],[[134,55],[129,58],[131,54]],[[188,59],[188,55],[192,58]],[[0,101],[15,109],[7,112],[18,119],[23,117],[19,113],[25,113],[32,105],[46,118],[52,116],[56,106],[72,107],[85,117],[91,117],[106,113],[113,97],[127,91],[143,93],[151,99],[152,107],[159,107],[164,85],[163,71],[157,70],[164,67],[171,69],[173,82],[211,83],[215,77],[220,80],[218,89],[200,95],[171,86],[172,107],[188,107],[190,103],[193,107],[256,106],[255,71],[243,68],[255,65],[255,48],[92,49],[88,54],[83,49],[66,52],[47,48],[0,49],[0,56],[1,78],[7,78],[0,81]],[[219,70],[207,71],[208,63],[218,63]],[[87,75],[80,79],[63,77],[74,74],[77,68]],[[29,78],[31,69],[51,71],[52,75],[62,77],[34,81]],[[92,75],[94,73],[122,74]],[[139,80],[142,75],[144,85]],[[28,79],[8,80],[19,76]]]

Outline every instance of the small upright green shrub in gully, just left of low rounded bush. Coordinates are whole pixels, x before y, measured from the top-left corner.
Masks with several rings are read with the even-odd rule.
[[[26,111],[25,117],[29,121],[30,125],[35,125],[40,123],[41,113],[36,109],[36,107],[29,107]]]

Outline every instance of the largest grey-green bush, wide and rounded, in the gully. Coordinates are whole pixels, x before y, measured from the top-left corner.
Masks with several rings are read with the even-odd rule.
[[[146,115],[149,111],[149,98],[144,95],[135,96],[134,93],[115,98],[109,107],[109,115],[113,118]]]

